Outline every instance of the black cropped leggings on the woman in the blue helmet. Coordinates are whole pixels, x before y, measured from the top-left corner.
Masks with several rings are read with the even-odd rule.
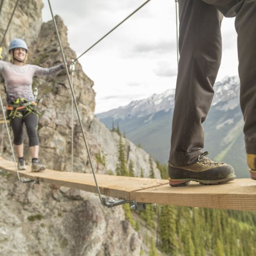
[[[36,109],[35,106],[33,108]],[[26,108],[19,109],[19,113],[26,115]],[[7,110],[7,116],[11,113],[10,110]],[[29,147],[39,145],[37,126],[38,126],[38,116],[34,113],[29,113],[25,117],[15,116],[11,119],[11,127],[14,134],[14,144],[20,145],[23,143],[23,123],[26,125],[26,131],[29,137]]]

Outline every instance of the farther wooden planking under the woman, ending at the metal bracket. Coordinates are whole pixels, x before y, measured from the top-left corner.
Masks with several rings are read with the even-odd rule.
[[[92,174],[78,172],[60,172],[46,169],[43,172],[31,172],[31,166],[26,171],[19,171],[20,177],[35,181],[46,182],[59,186],[97,193],[95,180]],[[12,161],[0,157],[0,169],[17,174]],[[135,192],[169,183],[168,180],[158,180],[139,177],[124,177],[114,175],[96,175],[96,180],[102,195],[132,201]]]

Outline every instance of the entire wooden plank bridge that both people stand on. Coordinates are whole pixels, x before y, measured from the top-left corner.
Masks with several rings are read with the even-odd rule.
[[[97,193],[93,174],[60,172],[46,169],[43,172],[19,171],[20,177],[73,189]],[[0,157],[0,169],[17,174],[15,164]],[[171,187],[168,180],[113,175],[97,175],[102,195],[135,201],[143,204],[166,204],[186,207],[256,211],[256,181],[236,179],[221,185]]]

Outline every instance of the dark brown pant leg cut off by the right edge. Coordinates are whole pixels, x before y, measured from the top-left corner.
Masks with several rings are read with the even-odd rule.
[[[247,154],[256,154],[256,0],[244,0],[237,12],[240,105]]]

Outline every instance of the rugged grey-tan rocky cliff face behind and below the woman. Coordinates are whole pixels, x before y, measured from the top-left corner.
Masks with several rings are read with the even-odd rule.
[[[0,13],[0,32],[4,34],[14,8],[6,0]],[[41,0],[20,0],[4,38],[3,60],[8,61],[12,38],[23,38],[29,47],[31,64],[50,67],[63,62],[52,22],[42,24]],[[67,41],[67,28],[56,16],[58,32],[66,60],[76,58]],[[71,74],[70,74],[71,75]],[[38,109],[41,112],[38,134],[40,160],[49,169],[90,173],[90,164],[72,97],[67,74],[35,78],[38,87]],[[94,117],[93,81],[84,74],[79,62],[73,87],[96,173],[115,172],[119,136]],[[1,86],[1,98],[5,93]],[[5,103],[4,103],[5,104]],[[72,122],[73,120],[73,122]],[[73,125],[72,125],[73,124]],[[73,140],[71,128],[73,127]],[[12,134],[11,134],[12,135]],[[12,160],[7,132],[3,128],[2,156]],[[31,163],[27,138],[24,156]],[[143,169],[149,174],[149,155],[123,139],[127,160],[134,162],[137,176]],[[98,163],[96,154],[106,157],[106,165]],[[155,177],[160,173],[154,163]],[[17,177],[0,172],[0,254],[1,255],[139,255],[142,238],[125,220],[122,207],[105,209],[97,195],[48,184],[20,183]]]

